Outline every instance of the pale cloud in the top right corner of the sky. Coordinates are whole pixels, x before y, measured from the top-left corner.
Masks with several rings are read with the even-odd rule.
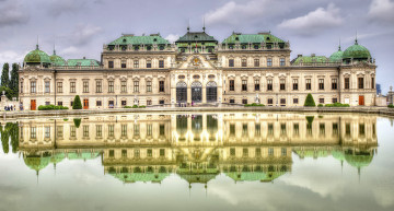
[[[371,21],[394,23],[394,2],[391,0],[372,0],[368,16]]]

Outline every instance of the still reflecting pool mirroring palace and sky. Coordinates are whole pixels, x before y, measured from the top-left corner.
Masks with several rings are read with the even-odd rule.
[[[0,211],[394,209],[386,117],[120,114],[0,122]]]

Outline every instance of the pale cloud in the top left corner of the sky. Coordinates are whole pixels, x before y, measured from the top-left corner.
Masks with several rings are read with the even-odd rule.
[[[1,1],[4,3],[0,4],[0,27],[24,24],[28,21],[30,13],[19,0]]]

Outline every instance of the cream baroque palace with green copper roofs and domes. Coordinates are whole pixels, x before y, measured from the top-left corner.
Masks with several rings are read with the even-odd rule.
[[[160,34],[121,37],[104,45],[101,61],[28,52],[20,70],[23,109],[39,105],[83,108],[134,105],[215,105],[260,103],[375,105],[375,62],[358,44],[329,57],[290,58],[290,44],[270,32],[233,33],[222,43],[205,32],[189,32],[175,43]]]

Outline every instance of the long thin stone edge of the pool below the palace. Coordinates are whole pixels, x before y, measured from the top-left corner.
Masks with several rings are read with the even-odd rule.
[[[24,110],[24,112],[0,112],[1,117],[22,118],[37,116],[76,116],[97,114],[123,114],[123,113],[201,113],[201,112],[291,112],[291,113],[358,113],[394,116],[394,108],[384,107],[183,107],[183,108],[113,108],[91,110]]]

